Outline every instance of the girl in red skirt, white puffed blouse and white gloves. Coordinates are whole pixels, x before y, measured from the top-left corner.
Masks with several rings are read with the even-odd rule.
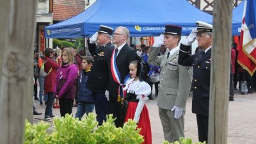
[[[148,109],[145,101],[151,93],[151,87],[145,81],[140,80],[140,61],[132,61],[129,65],[131,78],[125,84],[124,91],[124,122],[132,119],[137,122],[140,134],[145,144],[152,144],[152,134]]]

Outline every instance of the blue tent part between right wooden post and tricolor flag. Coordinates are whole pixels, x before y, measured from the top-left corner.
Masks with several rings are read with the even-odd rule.
[[[244,1],[242,1],[232,13],[232,21],[236,22],[232,27],[232,35],[240,35],[241,34],[241,26],[244,12]]]

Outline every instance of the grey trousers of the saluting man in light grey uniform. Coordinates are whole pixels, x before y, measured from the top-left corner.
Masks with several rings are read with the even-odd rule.
[[[161,109],[158,108],[159,116],[164,131],[164,140],[173,143],[174,141],[179,141],[180,137],[184,137],[184,115],[183,111],[182,116],[178,119],[174,118],[174,111],[170,109]]]

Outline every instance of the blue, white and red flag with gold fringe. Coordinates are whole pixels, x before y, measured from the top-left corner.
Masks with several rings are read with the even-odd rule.
[[[244,2],[238,63],[253,75],[256,71],[256,1]]]

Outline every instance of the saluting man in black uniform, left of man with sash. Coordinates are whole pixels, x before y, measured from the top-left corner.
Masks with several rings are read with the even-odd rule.
[[[106,121],[106,115],[109,114],[109,97],[106,97],[105,92],[108,87],[111,53],[115,49],[111,44],[112,33],[112,28],[101,25],[99,31],[88,40],[88,48],[93,56],[93,67],[86,86],[92,91],[99,125],[102,125],[103,120]],[[98,48],[95,45],[96,41],[99,44]]]

